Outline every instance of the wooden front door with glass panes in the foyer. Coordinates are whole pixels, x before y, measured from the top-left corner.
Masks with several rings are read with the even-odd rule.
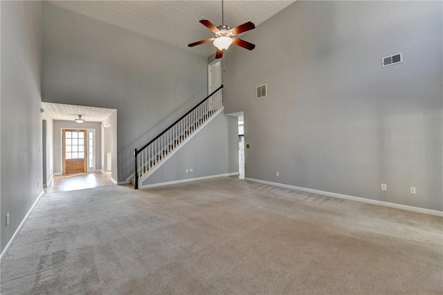
[[[63,129],[63,174],[87,172],[87,130]]]

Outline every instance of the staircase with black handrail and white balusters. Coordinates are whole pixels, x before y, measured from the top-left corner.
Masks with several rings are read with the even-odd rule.
[[[221,110],[223,107],[222,89],[223,85],[192,107],[152,141],[143,145],[141,149],[134,150],[135,172],[131,183],[135,189],[138,189],[139,182],[152,175],[161,163],[171,157],[192,134]]]

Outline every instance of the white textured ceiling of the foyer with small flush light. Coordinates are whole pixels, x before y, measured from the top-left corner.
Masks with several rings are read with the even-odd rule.
[[[42,102],[42,109],[54,120],[74,120],[78,115],[87,122],[102,122],[115,109],[102,107],[84,107],[82,105],[62,105],[60,103]]]

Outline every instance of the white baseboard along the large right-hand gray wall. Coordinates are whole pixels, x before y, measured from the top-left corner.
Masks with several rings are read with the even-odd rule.
[[[325,195],[325,196],[329,196],[329,197],[338,197],[340,199],[350,199],[352,201],[358,201],[358,202],[363,202],[363,203],[368,203],[368,204],[373,204],[373,205],[381,205],[381,206],[386,206],[386,207],[390,207],[390,208],[396,208],[396,209],[401,209],[401,210],[406,210],[406,211],[413,211],[413,212],[443,217],[443,211],[431,210],[431,209],[426,209],[426,208],[419,208],[419,207],[408,206],[408,205],[395,204],[395,203],[390,203],[390,202],[383,202],[383,201],[378,201],[375,199],[365,199],[363,197],[354,197],[354,196],[350,196],[350,195],[330,193],[330,192],[325,192],[323,190],[313,190],[311,188],[301,188],[299,186],[290,186],[289,184],[279,184],[277,182],[265,181],[265,180],[260,180],[260,179],[253,179],[253,178],[248,178],[248,177],[245,177],[244,180],[258,182],[260,184],[269,184],[270,186],[279,186],[280,188],[289,188],[291,190],[301,190],[302,192],[307,192],[307,193],[314,193],[314,194]]]

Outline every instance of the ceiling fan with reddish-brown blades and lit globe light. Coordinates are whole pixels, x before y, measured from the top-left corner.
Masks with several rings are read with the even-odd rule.
[[[215,58],[221,58],[223,56],[223,53],[230,44],[235,44],[237,46],[246,48],[248,50],[253,50],[255,48],[255,45],[249,42],[246,42],[242,39],[239,39],[235,37],[236,35],[239,35],[241,33],[247,32],[248,30],[252,30],[255,28],[255,24],[253,24],[251,21],[248,21],[247,23],[244,23],[242,25],[236,26],[235,28],[231,28],[228,25],[224,24],[224,9],[223,9],[223,0],[221,0],[221,25],[220,26],[214,26],[210,21],[207,19],[201,19],[200,23],[206,26],[206,28],[210,29],[214,34],[215,37],[203,39],[191,44],[188,44],[189,47],[196,46],[199,44],[204,44],[208,42],[214,42],[214,46],[217,47],[217,53],[215,53]]]

